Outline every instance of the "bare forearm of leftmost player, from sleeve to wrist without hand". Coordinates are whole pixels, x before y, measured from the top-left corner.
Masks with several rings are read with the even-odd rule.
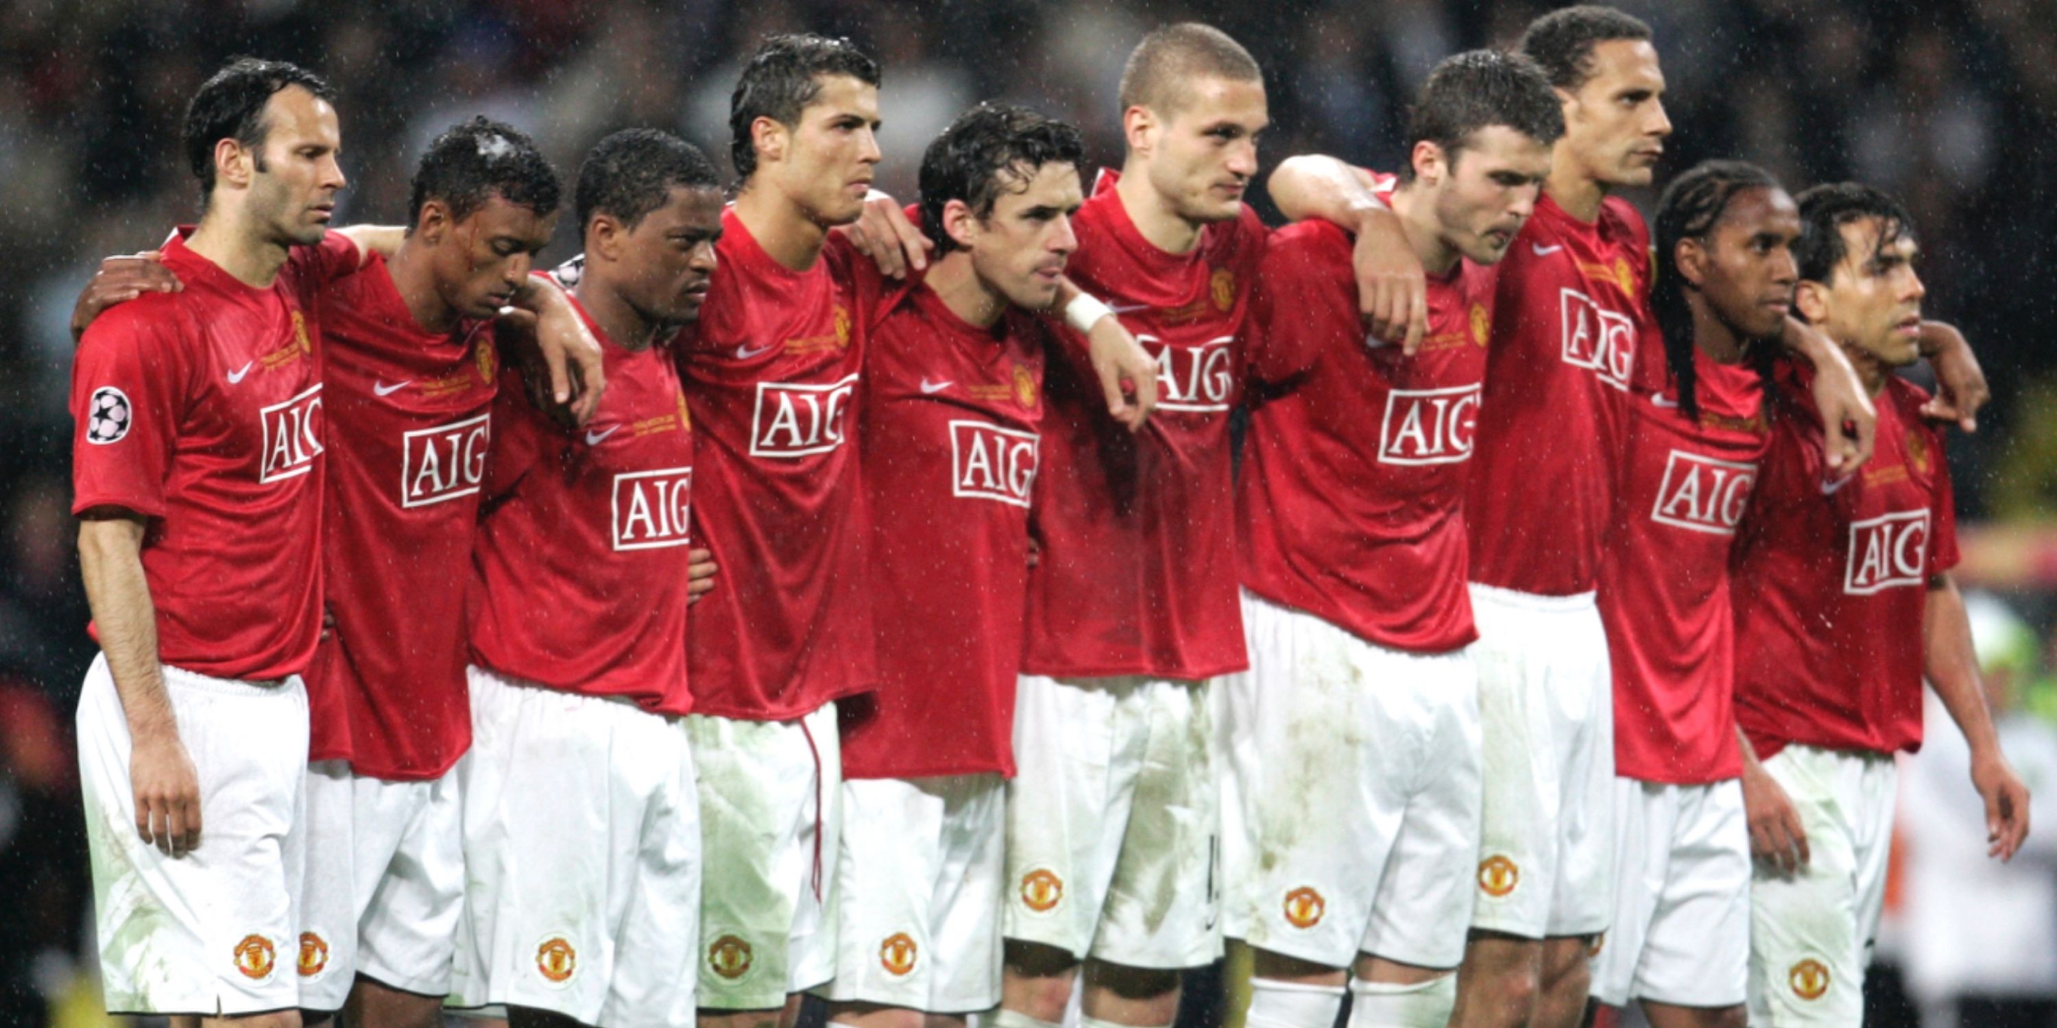
[[[130,734],[177,734],[156,660],[156,604],[142,574],[142,533],[144,524],[132,518],[80,522],[78,570]]]

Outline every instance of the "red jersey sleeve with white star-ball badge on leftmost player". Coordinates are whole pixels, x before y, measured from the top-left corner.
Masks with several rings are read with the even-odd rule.
[[[179,313],[150,298],[101,315],[72,364],[72,512],[165,516],[165,485],[191,397]]]

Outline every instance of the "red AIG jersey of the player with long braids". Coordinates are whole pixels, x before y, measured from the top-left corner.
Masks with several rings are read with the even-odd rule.
[[[1695,352],[1699,419],[1676,389],[1629,401],[1621,489],[1600,557],[1615,676],[1615,773],[1703,785],[1742,773],[1728,559],[1771,440],[1748,364]]]

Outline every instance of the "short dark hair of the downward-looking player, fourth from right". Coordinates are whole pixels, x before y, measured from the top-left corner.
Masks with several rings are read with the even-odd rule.
[[[1432,142],[1454,164],[1471,134],[1506,125],[1541,144],[1563,136],[1563,107],[1537,62],[1497,49],[1444,58],[1421,82],[1407,117],[1407,146]],[[1401,162],[1401,181],[1413,181],[1413,160]]]

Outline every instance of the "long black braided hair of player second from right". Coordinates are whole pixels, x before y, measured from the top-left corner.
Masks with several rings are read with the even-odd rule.
[[[1699,368],[1693,364],[1693,304],[1687,300],[1693,284],[1679,271],[1679,243],[1687,238],[1705,243],[1728,214],[1728,204],[1751,189],[1779,189],[1779,181],[1742,160],[1701,160],[1672,179],[1658,197],[1652,226],[1656,273],[1650,284],[1650,313],[1664,333],[1664,364],[1679,382],[1679,409],[1693,419],[1699,417],[1699,397],[1693,389],[1699,380]]]

